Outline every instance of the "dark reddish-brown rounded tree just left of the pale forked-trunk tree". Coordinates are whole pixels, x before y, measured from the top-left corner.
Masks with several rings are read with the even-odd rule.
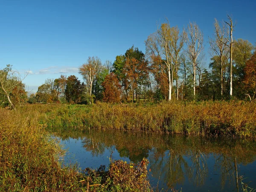
[[[79,103],[84,94],[84,83],[81,83],[76,76],[69,76],[66,81],[65,96],[69,103]]]

